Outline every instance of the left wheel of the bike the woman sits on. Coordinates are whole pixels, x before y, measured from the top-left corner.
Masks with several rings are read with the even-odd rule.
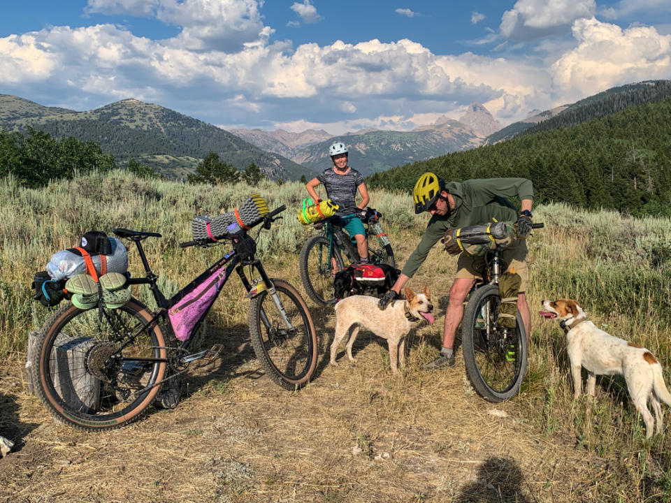
[[[298,259],[301,264],[301,280],[305,292],[317,305],[335,304],[333,276],[345,268],[335,242],[329,254],[329,240],[317,235],[305,242]]]

